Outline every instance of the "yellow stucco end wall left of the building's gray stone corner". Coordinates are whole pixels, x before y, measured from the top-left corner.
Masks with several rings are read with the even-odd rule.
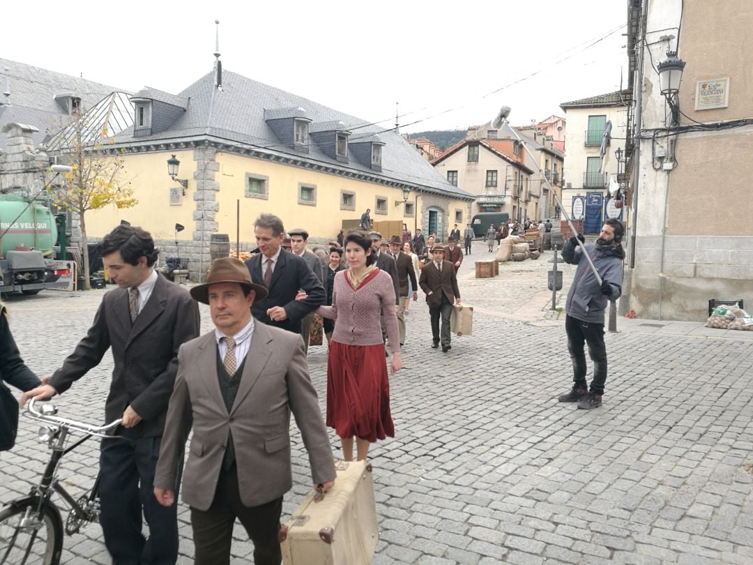
[[[179,179],[188,180],[186,196],[179,206],[170,206],[170,188],[179,187],[167,174],[167,160],[175,155],[181,162]],[[120,182],[130,183],[133,196],[139,200],[133,208],[117,209],[114,205],[87,212],[87,234],[102,237],[108,234],[120,220],[130,221],[151,233],[155,240],[175,238],[175,224],[186,228],[178,234],[178,240],[191,240],[194,229],[194,150],[169,151],[163,153],[125,154],[125,170]]]

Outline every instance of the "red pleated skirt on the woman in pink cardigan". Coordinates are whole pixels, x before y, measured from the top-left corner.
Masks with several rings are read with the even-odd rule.
[[[327,425],[341,438],[377,441],[395,437],[389,413],[384,344],[330,344],[327,360]]]

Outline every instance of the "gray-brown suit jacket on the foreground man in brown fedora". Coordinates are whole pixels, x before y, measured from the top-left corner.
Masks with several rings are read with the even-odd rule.
[[[154,486],[175,490],[178,464],[193,429],[181,490],[183,502],[200,510],[209,509],[215,497],[231,433],[244,505],[270,502],[291,489],[291,411],[309,454],[313,482],[334,481],[336,475],[300,335],[255,323],[247,355],[228,413],[218,383],[214,331],[178,352]]]

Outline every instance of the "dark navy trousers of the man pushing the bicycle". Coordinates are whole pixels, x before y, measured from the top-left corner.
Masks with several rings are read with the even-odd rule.
[[[124,439],[103,439],[99,452],[99,523],[112,563],[174,565],[178,560],[178,505],[165,508],[153,492],[162,438],[135,438],[133,429],[118,433]],[[148,539],[142,535],[142,512],[149,526]]]

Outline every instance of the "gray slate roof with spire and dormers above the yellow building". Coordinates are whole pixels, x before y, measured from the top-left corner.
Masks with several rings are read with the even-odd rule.
[[[215,87],[215,72],[209,72],[191,86],[178,93],[188,99],[186,111],[168,130],[151,136],[134,137],[133,131],[115,136],[116,145],[141,145],[156,141],[210,136],[219,140],[252,145],[270,154],[295,156],[298,160],[327,163],[344,170],[360,171],[387,180],[406,182],[441,191],[448,197],[470,199],[471,194],[450,185],[434,167],[423,159],[399,133],[370,125],[367,121],[341,111],[313,102],[303,96],[270,87],[250,78],[245,78],[227,69],[222,72],[222,90]],[[312,125],[319,122],[342,121],[344,130],[350,131],[349,143],[363,142],[378,134],[377,139],[385,144],[382,148],[382,172],[350,158],[349,163],[340,163],[329,157],[309,139],[309,153],[294,151],[277,139],[265,121],[292,117],[303,108],[305,117]]]

